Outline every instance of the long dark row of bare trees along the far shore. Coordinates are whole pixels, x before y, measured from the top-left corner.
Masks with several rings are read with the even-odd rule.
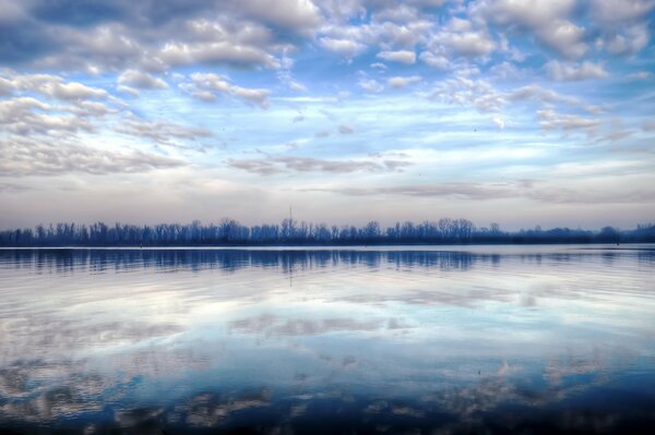
[[[56,223],[0,231],[0,246],[216,246],[216,245],[356,245],[356,244],[475,244],[475,243],[629,243],[655,242],[655,223],[632,230],[605,227],[600,231],[553,228],[503,231],[498,223],[476,227],[467,219],[442,218],[383,228],[378,221],[362,227],[298,222],[243,226],[225,218],[218,223],[135,226],[104,222]]]

